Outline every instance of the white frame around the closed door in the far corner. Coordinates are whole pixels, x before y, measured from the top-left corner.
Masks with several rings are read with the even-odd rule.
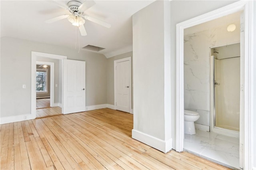
[[[117,63],[129,61],[129,113],[133,114],[132,111],[132,57],[126,57],[122,59],[114,60],[114,108],[116,110],[116,101],[117,101]]]

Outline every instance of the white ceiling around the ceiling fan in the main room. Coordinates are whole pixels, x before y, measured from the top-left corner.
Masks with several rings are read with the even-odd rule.
[[[84,0],[78,0],[83,3]],[[94,0],[96,4],[85,14],[108,22],[105,28],[86,20],[87,36],[79,36],[80,47],[94,45],[106,48],[98,53],[107,58],[132,51],[132,15],[154,0]],[[68,3],[69,0],[59,1]],[[46,24],[44,21],[70,14],[52,0],[0,0],[1,37],[13,37],[34,42],[75,48],[77,27],[67,19]],[[79,33],[80,35],[80,33]],[[85,50],[85,49],[83,49]]]

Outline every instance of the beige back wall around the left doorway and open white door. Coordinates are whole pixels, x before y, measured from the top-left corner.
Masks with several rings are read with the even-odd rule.
[[[31,113],[31,51],[86,61],[86,106],[106,104],[104,55],[16,38],[1,38],[1,117]],[[22,67],[20,67],[22,65]],[[22,89],[22,85],[26,89]]]

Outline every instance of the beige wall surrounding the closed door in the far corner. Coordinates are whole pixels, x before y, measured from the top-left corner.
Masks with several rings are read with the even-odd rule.
[[[116,55],[114,57],[107,59],[107,103],[110,105],[114,105],[114,61],[117,59],[122,59],[126,57],[132,57],[132,51],[128,53]],[[133,84],[133,74],[132,74],[132,84]],[[132,87],[132,108],[133,108],[133,87]]]

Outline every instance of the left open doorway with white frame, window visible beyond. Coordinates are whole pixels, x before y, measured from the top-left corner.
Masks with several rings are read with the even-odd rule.
[[[62,59],[66,56],[33,51],[31,56],[32,117],[62,114]]]

